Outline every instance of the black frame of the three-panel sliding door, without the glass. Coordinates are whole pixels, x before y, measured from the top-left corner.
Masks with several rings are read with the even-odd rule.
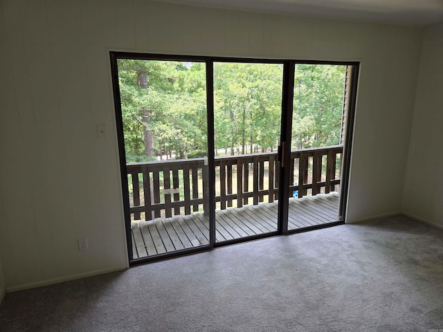
[[[116,127],[118,136],[118,152],[120,159],[120,178],[123,188],[123,208],[125,214],[125,229],[127,239],[127,250],[129,255],[129,264],[145,263],[147,261],[157,261],[160,259],[187,255],[193,252],[210,250],[220,246],[226,246],[233,243],[251,241],[252,239],[262,239],[281,234],[292,234],[295,232],[305,232],[311,229],[325,228],[332,225],[345,223],[345,208],[347,204],[347,190],[349,188],[350,174],[350,156],[352,151],[352,136],[354,124],[354,112],[356,107],[356,93],[359,75],[360,62],[331,62],[331,61],[305,61],[294,59],[250,59],[235,57],[205,57],[205,56],[187,56],[187,55],[165,55],[151,53],[129,53],[129,52],[109,52],[111,62],[111,75],[114,91],[114,108],[116,113]],[[195,248],[166,252],[164,254],[144,257],[142,259],[133,259],[132,237],[131,237],[131,217],[129,213],[129,191],[127,182],[125,140],[123,132],[123,117],[121,112],[120,87],[118,85],[118,59],[145,59],[145,60],[170,60],[170,61],[188,61],[201,62],[206,64],[206,118],[208,121],[208,166],[209,166],[209,244]],[[215,241],[215,143],[214,143],[214,62],[242,62],[242,63],[260,63],[260,64],[282,64],[282,113],[280,120],[280,147],[278,156],[280,160],[279,192],[278,192],[278,229],[275,232],[267,232],[251,237],[242,237],[229,241]],[[348,108],[347,126],[345,133],[345,144],[343,147],[342,165],[343,174],[341,176],[341,194],[339,202],[338,221],[327,223],[309,228],[298,230],[288,230],[288,209],[289,209],[289,172],[291,155],[291,131],[292,131],[292,113],[293,113],[293,85],[296,64],[337,64],[343,66],[352,66],[352,75],[350,83],[350,104]]]

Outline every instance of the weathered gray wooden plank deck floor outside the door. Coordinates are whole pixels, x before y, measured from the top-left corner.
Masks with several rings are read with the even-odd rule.
[[[338,221],[337,193],[289,200],[289,230]],[[216,212],[216,241],[277,230],[278,203]],[[134,259],[209,243],[209,221],[203,214],[174,216],[131,224]]]

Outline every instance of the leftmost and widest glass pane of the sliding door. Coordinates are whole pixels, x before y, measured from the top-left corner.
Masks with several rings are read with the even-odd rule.
[[[117,64],[132,259],[208,245],[205,64]]]

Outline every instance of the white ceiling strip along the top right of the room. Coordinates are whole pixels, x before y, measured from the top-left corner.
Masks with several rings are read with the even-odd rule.
[[[426,26],[443,21],[443,0],[157,0],[195,6]]]

